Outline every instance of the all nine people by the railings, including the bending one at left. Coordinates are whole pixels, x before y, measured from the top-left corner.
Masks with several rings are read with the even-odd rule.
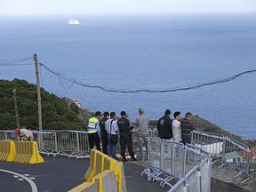
[[[103,113],[97,111],[88,122],[88,138],[90,149],[96,145],[100,150],[100,139],[102,143],[103,153],[116,158],[116,145],[118,138],[120,138],[121,156],[122,161],[126,162],[126,146],[128,152],[132,157],[132,161],[138,161],[134,156],[132,147],[132,129],[133,125],[127,118],[126,112],[121,111],[120,118],[117,119],[116,113],[108,111]],[[191,120],[193,115],[188,112],[184,118],[181,118],[180,111],[176,111],[171,118],[171,110],[166,109],[164,116],[157,121],[158,137],[164,140],[174,140],[184,144],[190,144],[192,138],[192,131],[195,129]],[[148,116],[144,115],[143,108],[139,108],[139,116],[135,120],[135,126],[138,134],[138,144],[140,148],[140,158],[145,159],[144,148],[148,154]],[[17,140],[30,140],[33,141],[33,133],[28,129],[16,128],[14,134],[17,135]],[[118,137],[118,135],[120,137]]]

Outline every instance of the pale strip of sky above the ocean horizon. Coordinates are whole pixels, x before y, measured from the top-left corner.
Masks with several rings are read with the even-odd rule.
[[[0,15],[256,12],[256,0],[0,0]]]

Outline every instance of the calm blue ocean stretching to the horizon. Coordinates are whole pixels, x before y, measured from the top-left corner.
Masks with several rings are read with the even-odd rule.
[[[84,108],[131,121],[138,108],[152,120],[189,111],[256,140],[256,73],[192,89],[256,69],[256,14],[0,16],[0,26],[0,79],[36,84],[36,53],[41,87]],[[138,90],[148,92],[126,92]]]

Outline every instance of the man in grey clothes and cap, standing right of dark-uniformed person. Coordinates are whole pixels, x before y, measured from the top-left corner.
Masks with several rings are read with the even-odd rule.
[[[138,129],[138,142],[140,148],[140,157],[141,160],[145,160],[145,156],[143,154],[143,147],[145,146],[147,154],[148,154],[148,116],[144,116],[144,109],[139,108],[139,116],[135,120],[135,126]]]

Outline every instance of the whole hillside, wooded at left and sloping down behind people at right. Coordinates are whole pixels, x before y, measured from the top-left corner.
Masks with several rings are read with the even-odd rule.
[[[16,127],[13,90],[17,91],[17,105],[21,127],[38,127],[38,107],[36,84],[25,80],[0,80],[0,129],[11,130]],[[42,121],[44,130],[85,130],[88,119],[93,116],[90,109],[79,108],[71,99],[59,98],[41,88]],[[149,128],[156,128],[157,120],[151,120]],[[215,124],[194,116],[193,124],[204,132],[215,132],[235,140],[255,146],[256,140],[242,140]]]

